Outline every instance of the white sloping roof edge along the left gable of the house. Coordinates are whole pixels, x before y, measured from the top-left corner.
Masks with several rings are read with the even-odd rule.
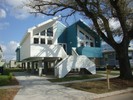
[[[20,42],[20,45],[22,45],[22,43],[25,41],[25,39],[28,37],[28,35],[30,34],[31,31],[33,31],[34,29],[39,28],[39,27],[41,27],[43,25],[46,25],[46,24],[48,24],[50,22],[57,21],[60,17],[61,16],[54,17],[52,19],[49,19],[49,20],[44,21],[44,22],[42,22],[42,23],[40,23],[40,24],[38,24],[36,26],[33,26],[33,27],[29,28],[28,31],[26,32],[26,34],[24,35],[22,41]]]

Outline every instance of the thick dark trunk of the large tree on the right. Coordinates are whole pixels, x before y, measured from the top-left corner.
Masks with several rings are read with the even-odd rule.
[[[120,67],[120,78],[121,79],[133,78],[130,61],[128,57],[128,47],[121,46],[116,51],[118,54],[118,61],[119,61],[119,67]]]

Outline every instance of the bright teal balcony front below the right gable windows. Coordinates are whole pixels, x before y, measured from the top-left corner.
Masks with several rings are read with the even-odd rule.
[[[98,47],[79,47],[76,49],[79,55],[92,58],[102,58],[102,49]]]

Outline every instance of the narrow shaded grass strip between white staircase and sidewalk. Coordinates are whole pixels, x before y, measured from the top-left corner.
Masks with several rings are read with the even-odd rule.
[[[64,78],[56,78],[56,79],[48,79],[51,82],[66,82],[66,81],[74,81],[74,80],[84,80],[84,79],[92,79],[99,78],[102,75],[80,75],[80,76],[67,76]]]

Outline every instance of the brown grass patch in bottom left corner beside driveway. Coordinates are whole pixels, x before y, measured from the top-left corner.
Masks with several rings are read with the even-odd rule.
[[[0,89],[0,100],[13,100],[18,90],[18,88]]]

